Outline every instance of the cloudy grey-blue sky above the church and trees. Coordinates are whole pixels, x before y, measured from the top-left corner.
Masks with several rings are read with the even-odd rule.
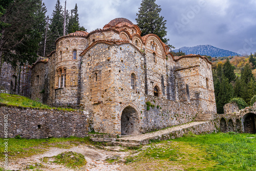
[[[56,0],[42,0],[52,17]],[[65,0],[60,0],[62,6]],[[124,17],[136,24],[141,0],[67,0],[67,9],[78,6],[79,23],[88,32],[110,20]],[[167,20],[167,38],[176,49],[212,45],[250,54],[256,52],[255,0],[156,0]]]

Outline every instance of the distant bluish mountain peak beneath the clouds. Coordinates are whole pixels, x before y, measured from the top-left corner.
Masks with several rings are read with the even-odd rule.
[[[231,51],[228,51],[228,50],[216,48],[216,47],[211,46],[211,45],[198,45],[198,46],[194,46],[194,47],[182,47],[180,49],[175,49],[173,51],[174,52],[179,52],[179,50],[184,52],[186,55],[200,54],[200,55],[207,55],[207,56],[211,56],[211,57],[223,57],[223,56],[240,55],[236,52],[231,52]]]

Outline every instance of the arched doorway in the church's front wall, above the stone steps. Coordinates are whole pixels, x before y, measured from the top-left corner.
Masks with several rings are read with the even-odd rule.
[[[121,115],[121,134],[138,134],[139,116],[138,112],[132,106],[126,106]]]

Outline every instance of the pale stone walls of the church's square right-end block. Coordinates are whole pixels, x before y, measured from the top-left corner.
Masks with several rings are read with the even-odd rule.
[[[199,113],[216,113],[210,63],[200,57],[181,58],[177,61],[176,79],[180,101],[191,102]]]

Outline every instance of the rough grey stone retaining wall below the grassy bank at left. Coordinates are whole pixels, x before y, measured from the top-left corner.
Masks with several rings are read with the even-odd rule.
[[[82,111],[31,109],[0,106],[0,137],[8,138],[85,137],[88,135],[87,117]],[[8,126],[5,123],[8,121]]]

